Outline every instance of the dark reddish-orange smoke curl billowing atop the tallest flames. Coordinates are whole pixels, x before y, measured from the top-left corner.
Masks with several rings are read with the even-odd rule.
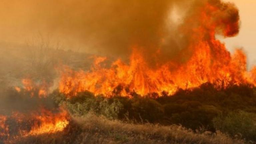
[[[202,17],[202,12],[204,12],[205,19],[200,18],[200,16]],[[209,18],[207,18],[207,15]],[[190,25],[187,26],[190,32],[192,32],[193,28],[201,26],[205,33],[213,32],[225,37],[232,37],[239,33],[240,28],[237,7],[233,3],[226,3],[221,0],[196,1],[185,20],[183,27],[184,25]]]

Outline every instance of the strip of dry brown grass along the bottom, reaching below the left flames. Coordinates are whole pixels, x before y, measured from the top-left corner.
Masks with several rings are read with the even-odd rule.
[[[27,137],[15,143],[47,144],[243,144],[243,140],[232,139],[217,132],[193,132],[181,126],[153,124],[131,124],[108,120],[92,113],[74,117],[64,132]]]

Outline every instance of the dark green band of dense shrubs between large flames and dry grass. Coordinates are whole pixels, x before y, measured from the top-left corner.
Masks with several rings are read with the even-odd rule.
[[[212,85],[204,84],[193,90],[179,90],[173,96],[153,94],[154,98],[149,95],[105,98],[89,92],[81,92],[71,99],[58,92],[53,95],[57,103],[65,103],[75,115],[82,116],[92,111],[110,119],[181,124],[192,130],[221,130],[231,136],[240,133],[243,138],[255,140],[255,121],[250,120],[251,114],[246,112],[256,112],[256,93],[247,85],[216,90]]]

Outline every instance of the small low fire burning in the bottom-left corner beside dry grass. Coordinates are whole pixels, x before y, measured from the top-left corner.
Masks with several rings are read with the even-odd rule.
[[[12,122],[12,125],[7,123]],[[30,115],[14,112],[11,116],[0,116],[0,140],[15,141],[26,136],[51,134],[63,131],[69,124],[67,111],[59,112],[42,108]],[[16,132],[9,133],[9,128]]]

